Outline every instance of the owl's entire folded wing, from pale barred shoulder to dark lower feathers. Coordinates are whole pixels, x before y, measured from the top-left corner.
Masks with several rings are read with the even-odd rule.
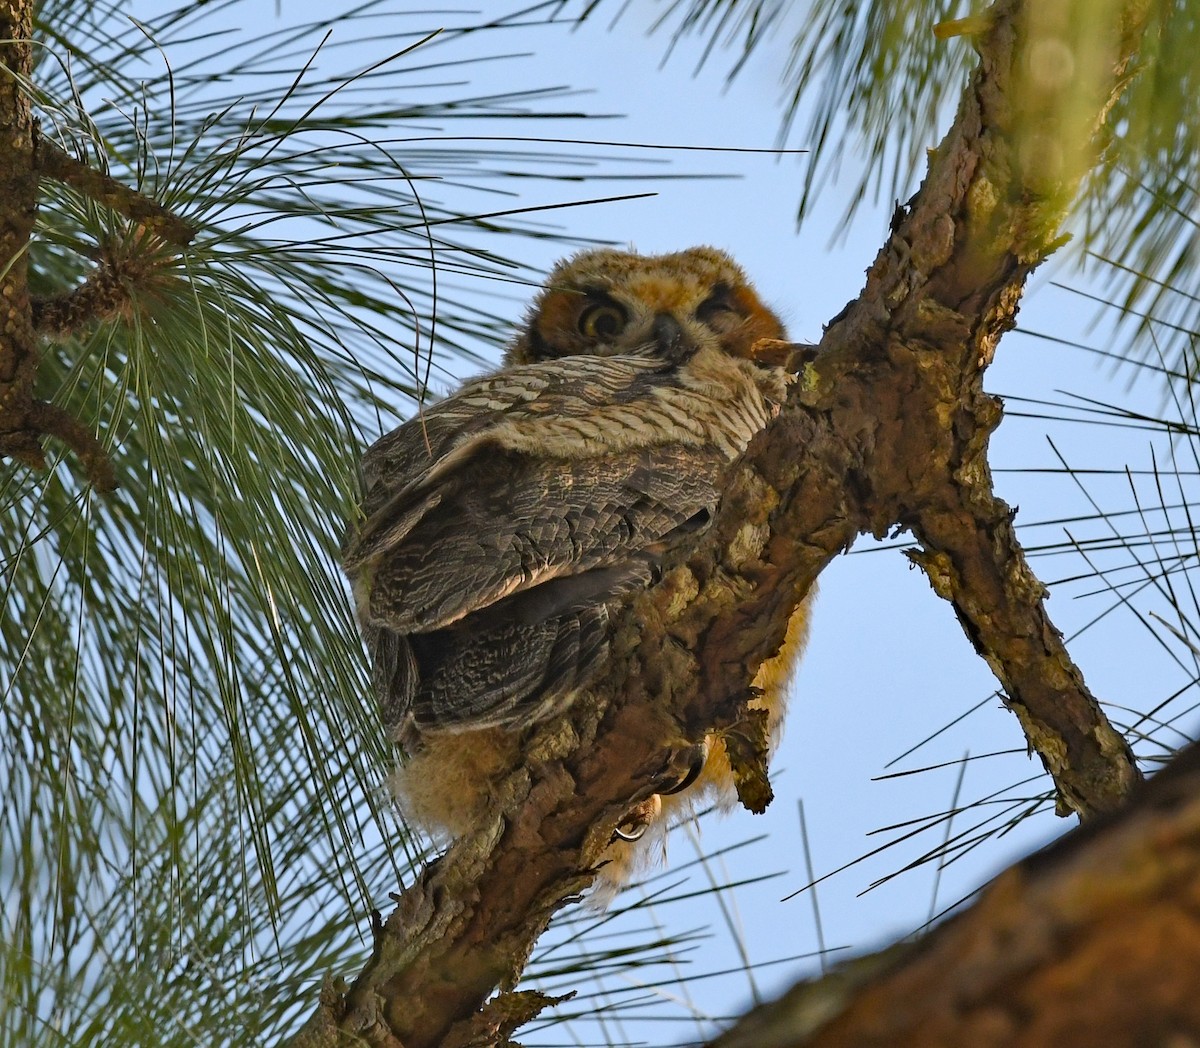
[[[707,523],[766,420],[684,387],[653,359],[526,365],[370,449],[343,564],[402,743],[535,720],[595,667],[605,603]]]

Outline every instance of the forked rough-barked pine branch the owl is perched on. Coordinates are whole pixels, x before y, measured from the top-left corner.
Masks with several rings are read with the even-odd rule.
[[[1121,804],[1139,773],[1046,617],[1013,514],[992,492],[986,447],[1001,412],[982,372],[1028,274],[1058,242],[1147,7],[1000,0],[942,28],[971,36],[979,54],[955,122],[864,291],[745,455],[714,527],[618,617],[595,701],[532,732],[491,825],[377,917],[366,969],[353,986],[326,983],[293,1044],[506,1043],[545,1004],[506,990],[662,771],[665,744],[713,726],[750,730],[742,702],[756,667],[821,568],[863,532],[899,526],[918,538],[914,559],[1003,684],[1060,810],[1087,818]],[[761,785],[752,761],[744,771]]]

